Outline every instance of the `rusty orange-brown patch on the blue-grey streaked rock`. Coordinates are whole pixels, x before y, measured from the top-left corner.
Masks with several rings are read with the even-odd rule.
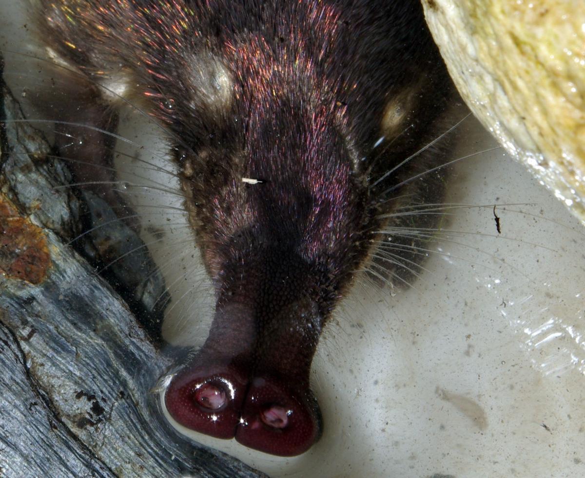
[[[43,230],[0,195],[0,273],[32,284],[42,282],[51,264]]]

